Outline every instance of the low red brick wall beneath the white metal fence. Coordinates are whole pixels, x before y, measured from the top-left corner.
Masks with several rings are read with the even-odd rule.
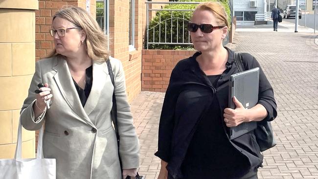
[[[142,91],[165,92],[172,69],[195,50],[142,50]]]

